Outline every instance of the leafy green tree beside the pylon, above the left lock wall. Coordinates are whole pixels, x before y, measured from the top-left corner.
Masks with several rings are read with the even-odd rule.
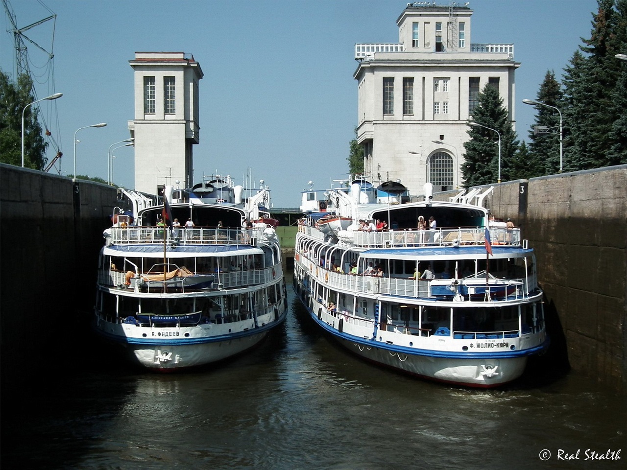
[[[22,164],[22,111],[35,101],[32,81],[20,75],[17,82],[0,70],[0,162]],[[38,108],[29,106],[24,112],[24,166],[43,170],[48,143],[37,120]]]

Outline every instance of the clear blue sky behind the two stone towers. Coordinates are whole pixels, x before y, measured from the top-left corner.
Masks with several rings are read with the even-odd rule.
[[[9,0],[18,26],[50,13],[37,0]],[[191,53],[204,71],[200,82],[201,143],[194,146],[195,179],[230,174],[241,183],[251,170],[270,186],[275,207],[297,207],[313,180],[325,189],[345,177],[357,122],[355,43],[398,42],[396,18],[407,0],[45,0],[58,16],[55,89],[63,174],[107,177],[107,151],[129,137],[135,51]],[[448,5],[447,0],[438,4]],[[596,0],[471,0],[473,43],[514,43],[519,138],[527,139],[547,70],[561,78],[581,37],[589,38]],[[13,36],[4,14],[0,67],[14,73]],[[51,22],[26,33],[46,49]],[[45,55],[29,45],[36,75]],[[43,79],[38,79],[43,80]],[[45,102],[48,103],[48,102]],[[46,106],[41,112],[48,113]],[[53,156],[49,152],[48,157]],[[114,180],[133,187],[132,148],[115,152]]]

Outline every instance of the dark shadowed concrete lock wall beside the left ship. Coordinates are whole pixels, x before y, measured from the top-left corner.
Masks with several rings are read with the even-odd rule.
[[[105,184],[0,164],[4,378],[98,354],[83,343],[93,340],[85,328],[116,200]]]

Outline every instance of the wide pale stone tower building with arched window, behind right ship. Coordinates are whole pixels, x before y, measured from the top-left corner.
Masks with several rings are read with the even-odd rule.
[[[468,4],[408,3],[399,42],[359,43],[357,142],[372,182],[401,180],[411,194],[461,185],[468,120],[486,84],[514,117],[513,44],[471,43]]]

